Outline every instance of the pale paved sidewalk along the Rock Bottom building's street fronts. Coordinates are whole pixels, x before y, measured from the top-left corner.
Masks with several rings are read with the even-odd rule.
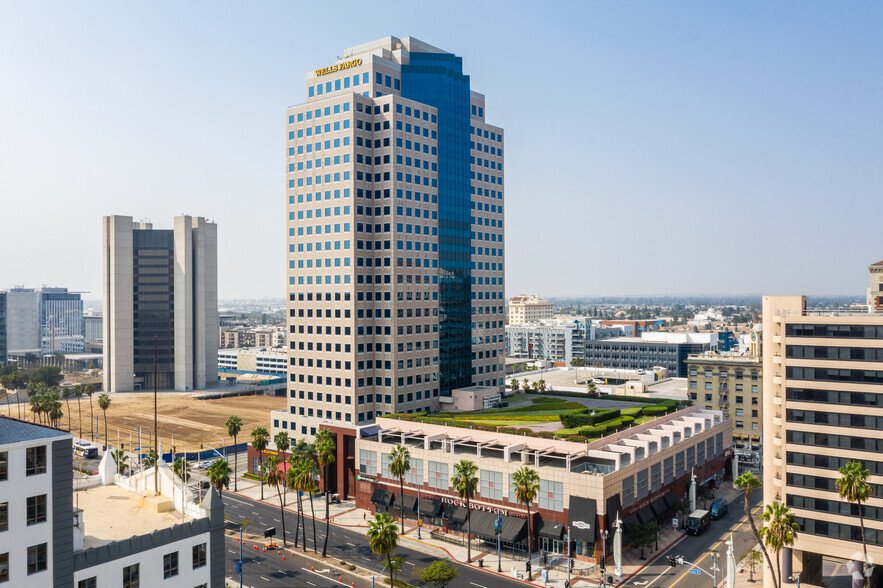
[[[247,480],[244,478],[239,479],[239,491],[233,492],[229,491],[231,494],[238,494],[240,496],[245,496],[254,500],[260,500],[261,492],[260,492],[260,483],[255,482],[254,480]],[[288,508],[294,507],[294,493],[289,492],[289,501],[290,504]],[[724,498],[727,502],[731,503],[730,508],[737,508],[741,510],[742,505],[742,492],[738,490],[733,490],[732,486],[729,484],[724,484],[723,487],[719,488],[716,493],[717,498]],[[271,491],[269,488],[264,488],[264,502],[267,504],[278,507],[279,500],[276,496],[275,490]],[[734,503],[735,504],[732,504]],[[315,501],[315,509],[316,509],[316,518],[324,519],[325,516],[325,500],[324,498],[320,498],[318,501]],[[309,517],[309,509],[307,509],[306,516]],[[339,525],[342,527],[349,527],[354,529],[367,529],[368,527],[368,519],[371,517],[371,513],[365,509],[360,509],[355,507],[354,501],[343,501],[340,504],[332,504],[330,506],[330,516],[331,522],[335,525]],[[686,533],[683,531],[674,530],[671,525],[663,525],[660,524],[660,534],[659,540],[657,542],[659,549],[646,549],[644,555],[645,559],[640,559],[641,550],[638,548],[627,548],[623,549],[623,561],[622,561],[622,576],[614,577],[614,584],[619,584],[631,576],[638,573],[645,566],[649,565],[653,561],[656,560],[660,555],[666,554],[669,550],[678,544],[685,536]],[[418,551],[422,551],[428,555],[444,558],[444,559],[452,559],[462,564],[466,564],[467,560],[467,549],[465,545],[455,545],[452,543],[447,543],[440,540],[435,540],[430,538],[430,530],[422,529],[420,532],[420,538],[417,537],[417,525],[413,520],[405,520],[405,534],[400,535],[401,545],[407,545],[412,549],[416,549]],[[612,534],[608,537],[608,548],[611,548],[613,541]],[[656,545],[654,545],[654,548]],[[543,583],[542,581],[542,555],[541,554],[533,554],[533,563],[532,563],[532,578],[531,583],[537,586],[549,586],[556,588],[563,588],[565,581],[567,580],[567,567],[566,567],[566,558],[563,556],[556,554],[547,554],[547,561],[551,563],[556,559],[561,560],[561,564],[556,565],[554,569],[548,569],[548,581]],[[483,566],[479,565],[479,561],[482,561]],[[521,578],[526,581],[524,578],[525,572],[525,560],[524,556],[520,557],[512,557],[512,554],[506,554],[505,552],[501,554],[501,564],[500,567],[503,570],[501,575],[505,575],[508,577],[516,577]],[[489,573],[496,574],[497,573],[497,553],[496,549],[489,548],[486,544],[482,544],[478,541],[473,540],[472,543],[472,566],[479,568],[483,567]],[[547,566],[548,567],[548,566]],[[607,568],[606,575],[613,575],[613,557],[610,556],[607,558]],[[571,586],[584,586],[588,587],[591,585],[596,585],[601,583],[601,575],[600,569],[596,564],[590,564],[585,561],[577,560],[574,563],[574,569],[571,572]],[[737,588],[756,588],[757,583],[751,584],[748,582],[748,571],[746,570],[744,573],[737,573],[736,575],[736,586]]]

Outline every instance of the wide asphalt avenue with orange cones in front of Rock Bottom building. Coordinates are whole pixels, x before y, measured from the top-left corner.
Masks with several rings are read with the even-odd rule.
[[[222,495],[222,499],[230,521],[238,523],[243,519],[251,519],[254,522],[248,528],[248,531],[258,535],[263,535],[264,529],[268,527],[276,527],[276,542],[279,545],[282,544],[282,521],[280,519],[279,507],[274,508],[267,504],[233,496],[226,492]],[[309,510],[309,503],[307,503],[306,508]],[[324,504],[320,501],[315,504],[315,508],[316,516],[318,517],[316,520],[316,540],[318,541],[318,551],[321,553],[322,543],[325,540],[325,522],[321,519],[325,512]],[[286,535],[289,539],[289,549],[292,551],[294,550],[293,539],[296,518],[294,513],[286,511]],[[306,520],[306,526],[307,549],[312,553],[313,529],[312,519],[309,517]],[[248,549],[251,549],[248,543],[246,543],[246,546]],[[276,555],[275,552],[265,554],[251,549],[251,554],[249,554],[248,549],[243,551],[243,557],[250,558],[243,560],[243,583],[247,586],[262,588],[270,586],[310,586],[312,583],[312,585],[318,587],[337,586],[339,588],[341,585],[336,581],[332,581],[330,584],[327,583],[328,579],[332,578],[332,576],[332,580],[337,579],[337,576],[334,576],[336,573],[334,570],[329,569],[328,573],[322,575],[311,573],[309,571],[310,567],[315,567],[315,562],[308,558],[301,556],[289,558],[286,556],[285,561],[282,561],[282,558]],[[298,549],[300,550],[302,547],[298,547]],[[348,563],[353,563],[360,568],[369,569],[376,572],[378,576],[387,575],[383,570],[383,565],[386,562],[374,555],[371,548],[368,547],[368,541],[363,532],[332,525],[331,536],[328,538],[328,555]],[[404,569],[399,572],[402,579],[418,586],[421,584],[411,576],[411,570],[415,567],[426,567],[437,559],[403,546],[396,548],[394,555],[399,555],[404,559]],[[238,559],[238,544],[235,539],[230,538],[227,540],[227,577],[233,578],[233,564]],[[459,574],[457,579],[448,585],[450,588],[524,587],[523,582],[512,578],[498,576],[458,563],[455,563],[455,565],[459,570]],[[349,579],[344,577],[344,580],[347,585],[350,585],[354,577],[350,576]],[[359,580],[355,580],[355,582],[357,587],[371,585],[370,579],[362,580],[361,584]],[[377,585],[381,586],[380,583]]]

